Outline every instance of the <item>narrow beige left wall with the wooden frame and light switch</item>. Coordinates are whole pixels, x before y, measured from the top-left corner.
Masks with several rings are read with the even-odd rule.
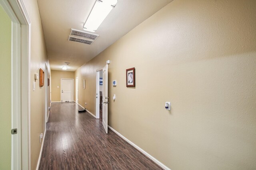
[[[36,0],[23,0],[29,18],[31,20],[31,169],[35,170],[39,158],[42,143],[39,143],[40,133],[45,130],[45,88],[39,87],[39,80],[36,80],[36,90],[33,91],[34,73],[39,74],[39,68],[45,72],[45,63],[50,70],[41,18]],[[46,72],[45,72],[46,74]],[[49,72],[47,73],[49,74]]]

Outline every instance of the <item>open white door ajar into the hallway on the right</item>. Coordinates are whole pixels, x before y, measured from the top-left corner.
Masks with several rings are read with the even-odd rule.
[[[102,125],[108,133],[108,64],[103,67]]]

